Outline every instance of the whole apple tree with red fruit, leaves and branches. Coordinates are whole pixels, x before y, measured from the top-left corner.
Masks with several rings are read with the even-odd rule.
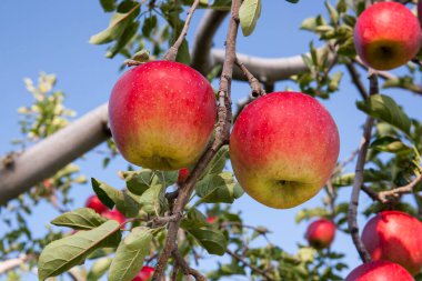
[[[19,109],[23,138],[0,163],[8,227],[0,233],[0,274],[19,280],[37,269],[39,280],[422,280],[422,124],[384,93],[422,94],[415,16],[422,3],[321,2],[326,13],[303,19],[300,29],[322,47],[303,42],[308,53],[274,61],[237,52],[238,38],[254,31],[265,4],[100,0],[98,12],[109,13],[110,23],[90,43],[107,44],[105,57],[123,61],[122,76],[109,104],[72,123],[76,111],[54,90],[56,76],[24,81],[33,103]],[[193,27],[198,10],[202,20]],[[212,49],[219,29],[227,34],[224,51]],[[355,151],[338,159],[341,136],[319,100],[330,102],[344,77],[355,86],[365,122]],[[251,88],[239,102],[233,80]],[[274,92],[283,80],[295,91]],[[123,189],[74,163],[101,142],[104,169],[119,157],[129,162],[119,171]],[[353,172],[345,169],[351,163]],[[94,192],[84,208],[69,195],[77,184]],[[270,229],[244,223],[232,207],[251,197],[289,209],[318,192],[321,204],[297,213],[298,223],[310,221],[308,244],[297,252],[271,241]],[[360,208],[361,194],[372,203]],[[46,202],[61,213],[51,221],[59,228],[33,237],[22,213]],[[359,225],[358,215],[368,224]],[[349,250],[362,265],[348,267],[345,253],[331,247],[335,233],[350,237]],[[218,265],[199,270],[209,255]]]

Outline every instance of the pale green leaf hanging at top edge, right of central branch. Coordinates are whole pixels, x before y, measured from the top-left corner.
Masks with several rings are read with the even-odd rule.
[[[257,21],[261,16],[261,0],[244,0],[239,9],[240,26],[243,36],[248,37],[255,29]]]

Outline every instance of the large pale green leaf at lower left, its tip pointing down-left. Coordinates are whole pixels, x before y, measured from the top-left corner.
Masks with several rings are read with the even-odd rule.
[[[51,242],[38,261],[39,279],[43,281],[83,263],[87,255],[96,249],[117,245],[121,238],[119,228],[117,221],[107,221],[96,229],[79,231]]]

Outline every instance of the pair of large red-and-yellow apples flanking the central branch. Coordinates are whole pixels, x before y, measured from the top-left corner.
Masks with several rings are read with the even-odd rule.
[[[192,68],[152,61],[127,71],[109,102],[110,129],[129,162],[179,170],[193,164],[210,141],[217,117],[211,84]],[[292,208],[313,197],[339,155],[339,132],[314,98],[269,93],[234,123],[230,157],[237,179],[257,201]]]

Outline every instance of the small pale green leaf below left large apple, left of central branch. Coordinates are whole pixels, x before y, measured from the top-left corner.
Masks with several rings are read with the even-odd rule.
[[[160,215],[168,210],[165,199],[165,188],[162,184],[154,184],[148,189],[140,198],[142,211],[148,214]]]

